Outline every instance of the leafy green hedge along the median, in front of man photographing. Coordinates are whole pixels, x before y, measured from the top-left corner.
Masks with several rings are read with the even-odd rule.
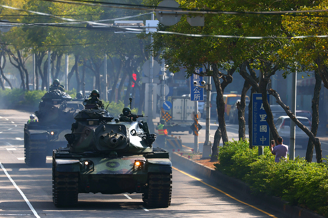
[[[308,163],[297,157],[276,163],[269,147],[258,149],[246,141],[219,148],[216,170],[246,182],[254,193],[281,197],[293,205],[328,217],[328,164]]]

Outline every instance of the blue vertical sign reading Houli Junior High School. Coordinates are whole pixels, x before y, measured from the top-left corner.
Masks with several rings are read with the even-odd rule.
[[[262,94],[253,93],[252,98],[252,145],[270,146],[270,128],[266,121],[268,116],[263,108]],[[268,101],[270,102],[269,94]]]

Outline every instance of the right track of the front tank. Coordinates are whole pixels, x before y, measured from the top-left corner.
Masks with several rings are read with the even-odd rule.
[[[167,208],[171,205],[172,175],[168,173],[150,173],[148,189],[142,194],[142,200],[149,207]]]

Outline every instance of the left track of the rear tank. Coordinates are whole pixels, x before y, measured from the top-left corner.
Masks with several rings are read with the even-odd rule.
[[[24,140],[25,163],[32,167],[46,164],[47,141],[31,142],[29,137]]]

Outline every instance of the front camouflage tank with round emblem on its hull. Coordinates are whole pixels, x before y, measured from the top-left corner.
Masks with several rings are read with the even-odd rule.
[[[172,165],[167,151],[152,147],[156,135],[146,122],[113,120],[94,106],[74,117],[67,147],[53,151],[54,205],[73,206],[78,193],[142,193],[147,206],[168,207]]]

